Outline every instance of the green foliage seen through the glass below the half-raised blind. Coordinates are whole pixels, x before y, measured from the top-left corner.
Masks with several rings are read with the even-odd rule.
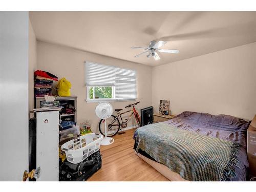
[[[93,99],[93,87],[89,89],[89,98]],[[95,87],[95,99],[105,99],[112,97],[112,87]]]

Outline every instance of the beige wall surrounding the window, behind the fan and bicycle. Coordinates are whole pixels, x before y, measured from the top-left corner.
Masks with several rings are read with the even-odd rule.
[[[86,102],[84,61],[137,70],[137,101],[141,101],[137,105],[138,109],[140,111],[152,105],[152,67],[37,41],[37,68],[53,73],[59,78],[66,77],[72,83],[71,94],[78,97],[78,123],[89,119],[93,131],[98,132],[99,118],[95,115],[97,103]],[[114,109],[123,109],[124,106],[133,102],[135,101],[111,102],[111,104]],[[131,121],[128,126],[133,126],[134,123]]]

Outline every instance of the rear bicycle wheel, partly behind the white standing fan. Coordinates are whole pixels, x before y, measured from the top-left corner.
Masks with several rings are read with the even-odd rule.
[[[99,132],[105,136],[105,121],[106,121],[106,136],[113,137],[120,129],[120,122],[116,116],[111,115],[108,119],[100,119]],[[112,123],[112,124],[111,124]]]

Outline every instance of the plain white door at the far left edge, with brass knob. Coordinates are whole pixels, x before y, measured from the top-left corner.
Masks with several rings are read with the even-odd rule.
[[[0,11],[0,181],[28,169],[28,12]]]

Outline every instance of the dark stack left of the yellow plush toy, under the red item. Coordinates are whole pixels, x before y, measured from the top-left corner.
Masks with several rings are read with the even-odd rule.
[[[52,96],[53,79],[47,77],[35,77],[35,97]]]

